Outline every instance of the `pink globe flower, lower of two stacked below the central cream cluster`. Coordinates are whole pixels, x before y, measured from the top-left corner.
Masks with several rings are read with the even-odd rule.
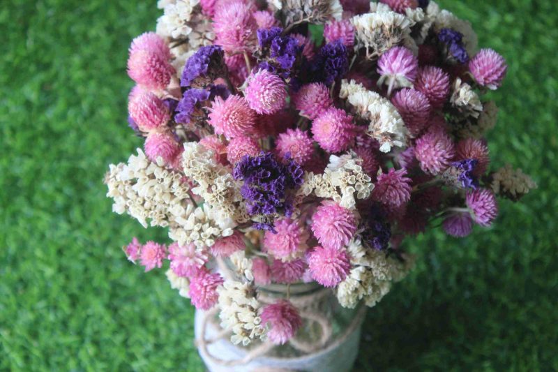
[[[317,246],[308,253],[307,260],[312,279],[324,287],[335,287],[345,280],[351,270],[345,249]]]

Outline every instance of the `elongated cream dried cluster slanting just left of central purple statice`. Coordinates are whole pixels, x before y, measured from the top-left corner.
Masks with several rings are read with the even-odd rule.
[[[213,209],[213,218],[222,228],[234,228],[249,220],[240,195],[241,185],[232,177],[229,168],[218,164],[213,151],[198,142],[186,142],[182,154],[184,174],[197,183],[192,189]]]

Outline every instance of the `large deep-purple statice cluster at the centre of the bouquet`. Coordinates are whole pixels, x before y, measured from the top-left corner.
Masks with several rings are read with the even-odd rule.
[[[273,214],[292,212],[289,191],[303,183],[303,170],[290,158],[284,162],[269,153],[259,156],[243,156],[234,166],[234,179],[244,181],[241,195],[246,199],[250,216],[259,216],[255,228],[273,231]],[[270,228],[271,226],[271,228]]]

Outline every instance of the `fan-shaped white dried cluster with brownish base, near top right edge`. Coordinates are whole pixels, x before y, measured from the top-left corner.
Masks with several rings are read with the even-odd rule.
[[[372,3],[370,12],[351,18],[354,26],[355,51],[364,49],[366,58],[377,59],[395,45],[403,45],[413,52],[418,47],[411,37],[412,21],[405,15],[392,12],[385,4]]]

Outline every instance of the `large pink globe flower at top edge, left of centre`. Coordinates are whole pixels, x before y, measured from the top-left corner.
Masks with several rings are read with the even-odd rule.
[[[256,44],[257,22],[252,15],[255,8],[240,0],[218,6],[213,16],[216,45],[231,54],[252,50]]]

